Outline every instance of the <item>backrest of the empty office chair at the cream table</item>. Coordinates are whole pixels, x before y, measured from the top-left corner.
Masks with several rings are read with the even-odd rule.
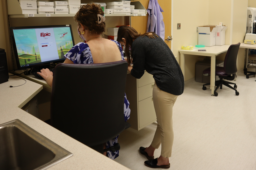
[[[236,66],[236,59],[237,59],[237,54],[238,50],[240,47],[240,42],[238,44],[232,44],[228,48],[227,54],[225,56],[224,60],[224,71],[225,73],[232,75],[237,72],[237,66]]]

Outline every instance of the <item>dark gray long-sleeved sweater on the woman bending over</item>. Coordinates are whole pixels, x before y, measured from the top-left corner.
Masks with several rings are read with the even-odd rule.
[[[144,70],[153,75],[158,88],[173,95],[184,91],[184,78],[179,64],[168,45],[160,38],[140,36],[131,47],[131,75],[141,78]]]

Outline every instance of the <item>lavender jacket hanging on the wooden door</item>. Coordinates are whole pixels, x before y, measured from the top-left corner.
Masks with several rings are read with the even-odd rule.
[[[147,32],[155,32],[164,40],[164,21],[161,12],[164,12],[157,0],[150,0],[148,3]]]

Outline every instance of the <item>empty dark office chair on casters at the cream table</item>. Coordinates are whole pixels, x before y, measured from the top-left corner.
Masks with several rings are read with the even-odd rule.
[[[214,90],[214,96],[218,96],[218,93],[216,92],[218,88],[222,89],[222,85],[225,85],[229,88],[232,88],[236,91],[236,95],[239,95],[239,92],[236,90],[237,85],[232,82],[225,81],[226,80],[234,80],[236,78],[236,72],[237,72],[237,66],[236,66],[236,59],[238,50],[240,47],[240,42],[238,44],[232,44],[228,48],[227,54],[225,56],[224,60],[224,66],[223,67],[215,67],[215,75],[219,76],[220,80],[215,81],[216,89]],[[209,76],[211,73],[211,68],[207,68],[203,71],[203,75]],[[234,84],[234,87],[231,87],[229,84]],[[210,85],[210,83],[203,85],[203,90],[206,90],[207,85]]]

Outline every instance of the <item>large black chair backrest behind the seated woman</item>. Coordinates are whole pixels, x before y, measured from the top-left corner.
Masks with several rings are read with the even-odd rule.
[[[126,61],[58,64],[51,94],[51,126],[94,146],[125,129]]]

